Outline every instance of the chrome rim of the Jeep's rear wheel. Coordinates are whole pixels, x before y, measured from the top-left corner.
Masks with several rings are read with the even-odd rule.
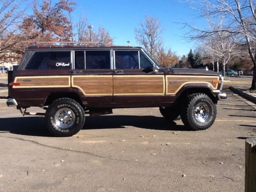
[[[55,123],[62,129],[67,129],[75,122],[75,113],[69,108],[62,108],[55,114]]]

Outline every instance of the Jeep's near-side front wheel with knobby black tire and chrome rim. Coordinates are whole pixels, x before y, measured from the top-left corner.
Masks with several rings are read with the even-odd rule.
[[[191,94],[183,105],[181,120],[193,131],[208,129],[215,121],[216,104],[204,93]]]

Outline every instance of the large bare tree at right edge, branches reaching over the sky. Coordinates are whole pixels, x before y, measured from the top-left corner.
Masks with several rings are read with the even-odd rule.
[[[251,89],[256,88],[256,60],[255,60],[255,40],[256,40],[256,16],[255,2],[252,0],[201,0],[188,1],[197,5],[197,10],[202,17],[223,19],[223,25],[219,29],[199,29],[189,24],[185,24],[191,29],[189,34],[191,39],[205,38],[219,32],[226,32],[229,36],[237,36],[237,44],[246,45],[247,53],[254,66]],[[207,19],[209,21],[209,19]],[[213,19],[211,19],[213,20]],[[196,32],[196,34],[195,34]],[[254,50],[253,50],[254,49]]]

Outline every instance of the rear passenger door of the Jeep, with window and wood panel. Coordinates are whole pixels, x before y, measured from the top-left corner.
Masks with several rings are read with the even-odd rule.
[[[110,49],[74,50],[71,87],[80,90],[88,103],[113,102]]]

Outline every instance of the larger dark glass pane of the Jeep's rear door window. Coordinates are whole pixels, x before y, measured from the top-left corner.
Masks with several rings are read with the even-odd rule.
[[[110,51],[86,51],[86,69],[110,69]]]

